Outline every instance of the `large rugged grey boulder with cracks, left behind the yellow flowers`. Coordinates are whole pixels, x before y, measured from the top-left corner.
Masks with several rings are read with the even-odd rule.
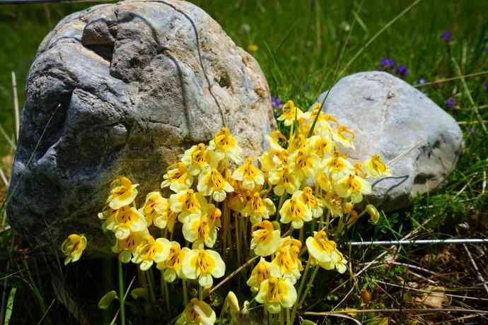
[[[67,16],[28,75],[10,223],[40,243],[84,232],[91,252],[104,252],[96,213],[111,180],[158,189],[178,154],[224,124],[244,155],[259,154],[274,126],[269,88],[202,9],[124,1]]]

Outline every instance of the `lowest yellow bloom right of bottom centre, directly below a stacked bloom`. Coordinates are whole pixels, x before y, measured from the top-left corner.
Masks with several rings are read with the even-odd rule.
[[[269,278],[262,281],[256,301],[265,304],[269,313],[278,314],[281,312],[281,307],[293,307],[296,302],[296,290],[289,280]]]

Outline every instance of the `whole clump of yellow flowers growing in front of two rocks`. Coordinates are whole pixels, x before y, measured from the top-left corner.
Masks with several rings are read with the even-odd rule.
[[[290,100],[278,120],[289,127],[289,136],[274,131],[257,160],[243,159],[226,127],[208,146],[187,149],[163,176],[163,193],[169,188],[172,194],[153,191],[139,208],[137,184],[127,177],[112,182],[98,216],[103,230],[115,236],[112,250],[120,261],[139,264],[143,271],[156,264],[165,281],[180,278],[199,286],[198,299],[190,300],[177,324],[214,324],[215,313],[202,293],[226,273],[219,254],[225,249],[238,264],[260,256],[247,281],[255,302],[272,314],[294,308],[293,321],[306,278],[302,255],[308,252],[305,273],[310,266],[344,273],[347,260],[329,238],[340,237],[364,213],[378,221],[374,206],[361,213],[354,208],[371,194],[368,178],[391,175],[380,155],[365,162],[348,158],[354,132],[321,112],[320,104],[303,112]],[[315,231],[304,238],[307,224]],[[161,237],[153,237],[156,228]],[[184,245],[173,241],[180,229]],[[78,246],[65,247],[69,253]],[[76,254],[71,260],[79,258]],[[231,301],[238,309],[236,298]]]

